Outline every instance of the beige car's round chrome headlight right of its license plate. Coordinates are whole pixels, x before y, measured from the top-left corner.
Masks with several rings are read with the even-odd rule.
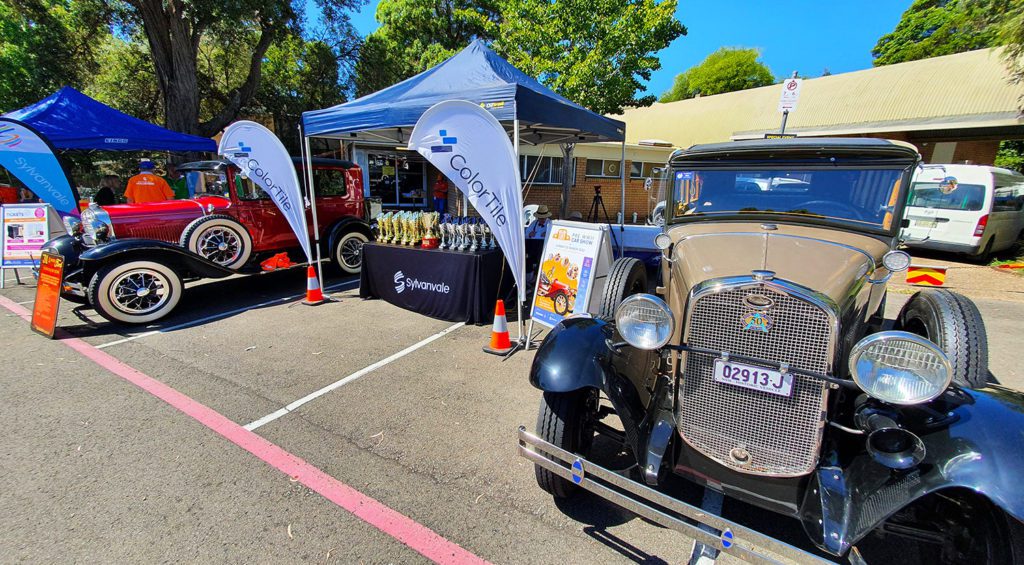
[[[934,343],[907,332],[880,332],[850,352],[854,382],[893,404],[928,402],[949,387],[952,365]]]

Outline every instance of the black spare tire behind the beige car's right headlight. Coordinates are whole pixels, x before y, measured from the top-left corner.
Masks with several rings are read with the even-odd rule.
[[[956,385],[974,389],[988,382],[988,336],[971,299],[945,289],[921,291],[903,305],[897,324],[946,353]]]

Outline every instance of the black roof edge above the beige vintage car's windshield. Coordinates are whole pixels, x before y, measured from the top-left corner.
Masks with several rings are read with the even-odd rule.
[[[780,155],[782,154],[782,155]],[[902,141],[874,137],[796,137],[791,139],[748,139],[702,143],[672,154],[670,163],[694,161],[745,161],[782,157],[826,157],[829,154],[863,158],[902,159],[915,162],[918,149]]]

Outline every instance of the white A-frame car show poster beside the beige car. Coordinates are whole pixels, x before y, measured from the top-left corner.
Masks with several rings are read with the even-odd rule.
[[[607,227],[600,224],[552,222],[537,274],[534,320],[549,328],[573,313],[588,311],[599,265],[610,263],[602,254]]]

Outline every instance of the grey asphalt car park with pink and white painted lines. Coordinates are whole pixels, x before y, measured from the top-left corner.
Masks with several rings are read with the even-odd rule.
[[[537,487],[515,454],[541,396],[526,381],[531,353],[486,355],[489,328],[359,300],[351,277],[325,281],[335,302],[304,306],[303,275],[191,285],[174,316],[145,328],[62,302],[75,339],[55,341],[10,311],[31,308],[34,288],[0,292],[2,561],[688,557],[685,537],[591,496],[556,505]],[[910,292],[894,286],[889,309]],[[976,301],[992,373],[1024,388],[1024,303]],[[143,389],[145,377],[160,386]],[[725,513],[809,547],[795,521],[729,501]]]

